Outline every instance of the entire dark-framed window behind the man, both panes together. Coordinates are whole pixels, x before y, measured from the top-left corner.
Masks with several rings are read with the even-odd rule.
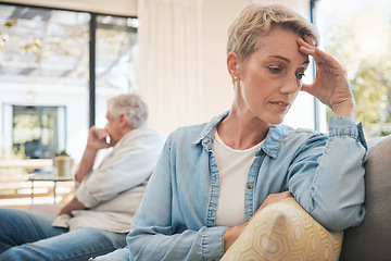
[[[64,149],[80,159],[90,124],[105,124],[108,98],[137,89],[137,26],[133,17],[0,4],[0,159]]]

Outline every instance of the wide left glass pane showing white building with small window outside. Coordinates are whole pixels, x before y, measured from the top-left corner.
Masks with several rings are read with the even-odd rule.
[[[83,153],[89,22],[88,13],[1,4],[0,159]]]

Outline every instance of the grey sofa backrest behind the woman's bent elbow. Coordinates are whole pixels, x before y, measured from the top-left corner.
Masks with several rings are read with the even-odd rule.
[[[366,216],[344,232],[342,261],[391,260],[391,135],[369,140],[365,169]]]

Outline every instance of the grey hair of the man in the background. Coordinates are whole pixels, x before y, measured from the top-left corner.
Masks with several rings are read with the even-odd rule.
[[[108,111],[113,116],[125,113],[128,127],[144,126],[148,119],[148,107],[137,95],[119,95],[108,101]]]

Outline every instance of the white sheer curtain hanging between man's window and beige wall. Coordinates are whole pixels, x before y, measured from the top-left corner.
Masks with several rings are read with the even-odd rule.
[[[139,0],[139,92],[164,134],[203,115],[202,0]]]

